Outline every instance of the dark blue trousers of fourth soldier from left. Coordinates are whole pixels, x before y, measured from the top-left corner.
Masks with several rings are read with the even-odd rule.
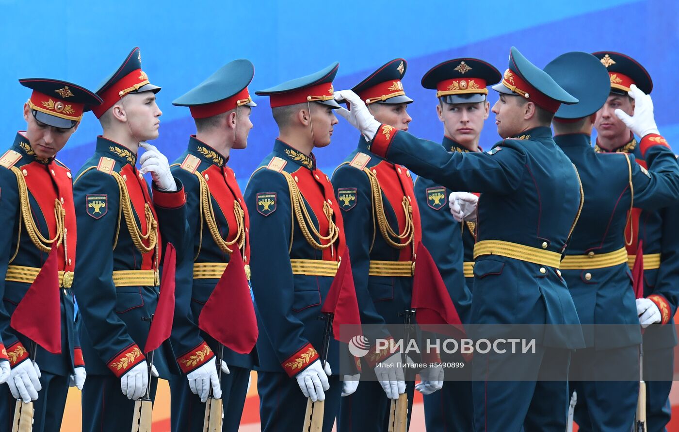
[[[342,396],[339,377],[329,376],[328,381],[330,389],[325,392],[323,432],[332,431]],[[257,392],[262,432],[301,431],[307,398],[301,393],[295,378],[278,372],[257,372]]]

